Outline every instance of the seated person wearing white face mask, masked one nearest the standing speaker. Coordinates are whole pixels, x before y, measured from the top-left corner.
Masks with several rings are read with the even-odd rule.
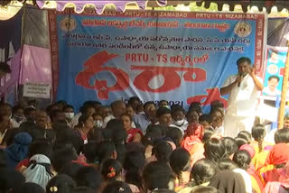
[[[180,105],[172,106],[172,120],[174,125],[180,127],[182,132],[185,132],[188,128],[189,123],[185,118],[186,112]]]

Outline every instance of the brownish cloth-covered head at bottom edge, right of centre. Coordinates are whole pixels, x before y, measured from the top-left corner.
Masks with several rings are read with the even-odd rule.
[[[224,193],[246,192],[244,179],[238,173],[231,170],[219,171],[211,180],[210,187],[219,189]]]

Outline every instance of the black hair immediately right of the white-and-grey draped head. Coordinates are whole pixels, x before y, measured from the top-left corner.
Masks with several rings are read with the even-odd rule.
[[[78,155],[72,146],[62,147],[59,150],[52,152],[51,164],[55,171],[61,170],[61,167],[70,161],[77,161]]]

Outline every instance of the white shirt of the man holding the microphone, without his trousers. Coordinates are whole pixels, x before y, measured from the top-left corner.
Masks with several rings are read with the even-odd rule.
[[[238,78],[238,75],[229,77],[225,81],[223,87],[228,87],[230,84],[236,81],[236,78]],[[226,115],[237,115],[244,117],[255,116],[257,94],[258,90],[255,87],[253,78],[247,74],[243,81],[240,83],[240,87],[234,87],[229,93]]]

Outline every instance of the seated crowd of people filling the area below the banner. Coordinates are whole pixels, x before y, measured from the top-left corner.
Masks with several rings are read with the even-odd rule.
[[[283,193],[289,129],[224,136],[224,105],[203,114],[138,97],[76,109],[0,104],[0,191],[13,193]],[[285,122],[286,123],[286,122]]]

